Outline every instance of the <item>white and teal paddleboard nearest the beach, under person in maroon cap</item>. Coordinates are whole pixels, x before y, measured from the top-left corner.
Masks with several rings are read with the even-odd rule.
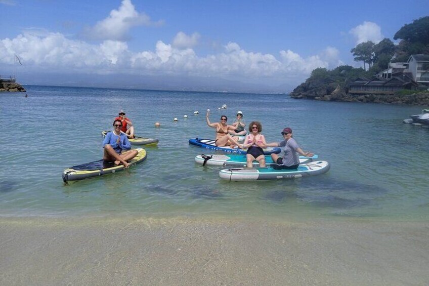
[[[320,175],[329,171],[330,165],[327,161],[313,161],[299,165],[298,169],[280,169],[268,168],[231,168],[219,171],[222,179],[230,181],[251,181],[251,180],[275,180],[275,179],[294,179],[314,175]]]

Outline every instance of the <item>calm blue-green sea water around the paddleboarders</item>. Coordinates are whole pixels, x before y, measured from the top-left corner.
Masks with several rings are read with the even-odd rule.
[[[429,214],[429,130],[402,124],[423,106],[320,102],[286,95],[161,92],[28,86],[2,93],[0,216],[189,216],[425,220]],[[226,110],[218,110],[227,104]],[[201,167],[213,138],[205,123],[237,110],[260,120],[267,141],[291,127],[304,150],[331,164],[320,176],[228,182]],[[102,156],[101,131],[124,109],[137,134],[159,139],[145,162],[65,185],[64,169]],[[194,115],[194,111],[200,114]],[[188,115],[185,119],[184,115]],[[177,117],[179,121],[174,122]],[[161,122],[160,128],[154,123]]]

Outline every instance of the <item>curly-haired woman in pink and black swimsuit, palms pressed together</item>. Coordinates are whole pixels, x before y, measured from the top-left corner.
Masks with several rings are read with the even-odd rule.
[[[262,148],[267,147],[265,136],[260,134],[262,125],[259,121],[252,121],[249,125],[249,134],[244,138],[243,148],[248,148],[246,153],[247,168],[253,167],[253,161],[259,162],[260,167],[266,167],[265,155]]]

